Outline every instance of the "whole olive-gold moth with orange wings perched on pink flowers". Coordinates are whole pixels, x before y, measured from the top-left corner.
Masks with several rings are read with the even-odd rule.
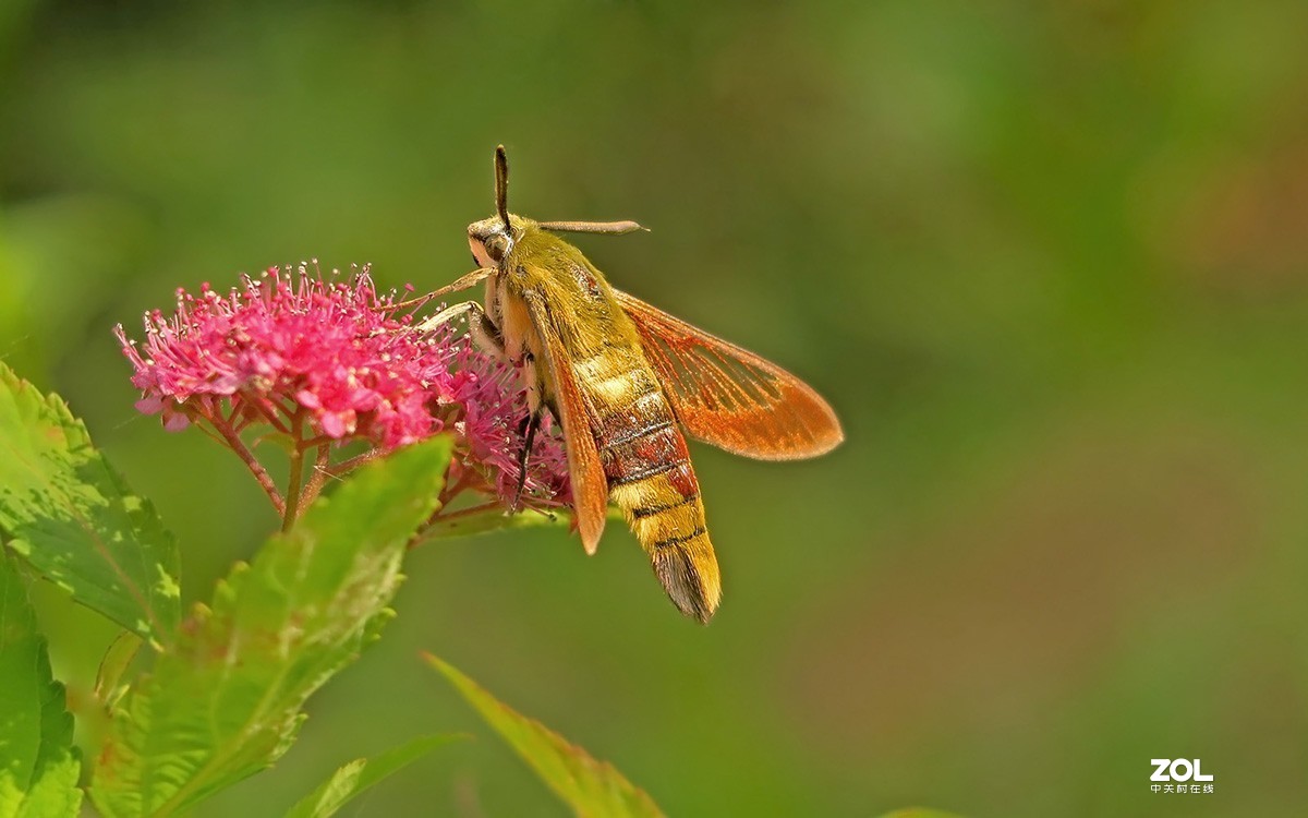
[[[706,623],[722,597],[685,436],[744,457],[816,457],[844,440],[831,406],[757,355],[615,289],[555,233],[623,234],[634,221],[532,221],[509,212],[509,161],[494,153],[496,215],[468,225],[477,268],[432,296],[485,281],[422,322],[466,318],[473,343],[510,363],[527,394],[527,454],[542,414],[562,427],[587,554],[608,504],[621,509],[668,597]]]

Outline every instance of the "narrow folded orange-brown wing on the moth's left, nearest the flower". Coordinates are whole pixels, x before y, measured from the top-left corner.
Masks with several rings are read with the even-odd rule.
[[[559,420],[564,424],[564,446],[568,452],[568,475],[572,480],[577,530],[581,533],[586,554],[594,554],[599,547],[599,535],[604,531],[604,517],[608,513],[608,480],[604,478],[604,466],[599,459],[599,449],[590,428],[586,399],[573,374],[572,356],[559,338],[559,330],[544,301],[531,293],[525,296],[525,301],[531,314],[531,323],[540,335]]]

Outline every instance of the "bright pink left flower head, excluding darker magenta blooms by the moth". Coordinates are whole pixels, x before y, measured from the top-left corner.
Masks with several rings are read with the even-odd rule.
[[[162,411],[169,428],[226,398],[239,416],[289,431],[289,400],[327,437],[390,449],[434,431],[425,385],[447,376],[434,342],[400,331],[387,306],[366,274],[347,284],[301,271],[292,283],[272,268],[243,291],[221,296],[205,284],[199,296],[178,291],[173,315],[146,313],[148,357],[116,334],[145,393],[139,408]]]

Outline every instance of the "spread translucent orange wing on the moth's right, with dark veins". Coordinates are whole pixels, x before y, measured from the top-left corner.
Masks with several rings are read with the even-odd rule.
[[[685,431],[764,461],[816,457],[845,433],[811,386],[772,361],[613,291]]]

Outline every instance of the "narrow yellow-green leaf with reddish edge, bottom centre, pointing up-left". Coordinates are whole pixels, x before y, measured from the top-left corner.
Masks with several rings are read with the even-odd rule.
[[[509,742],[549,789],[573,813],[587,818],[663,815],[654,800],[623,777],[612,764],[598,762],[545,725],[501,704],[476,682],[439,658],[426,661],[445,674],[481,717]]]

